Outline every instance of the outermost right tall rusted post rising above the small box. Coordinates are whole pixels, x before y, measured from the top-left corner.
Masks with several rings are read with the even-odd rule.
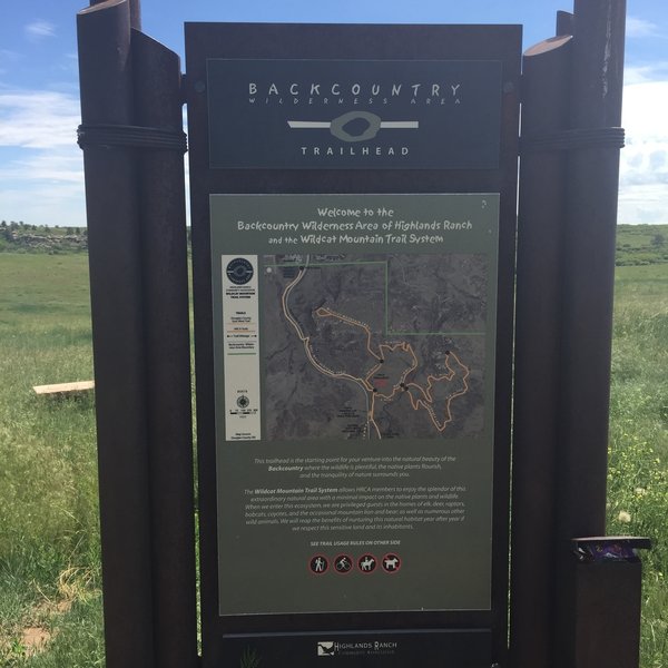
[[[576,0],[564,219],[559,536],[606,531],[625,0]]]

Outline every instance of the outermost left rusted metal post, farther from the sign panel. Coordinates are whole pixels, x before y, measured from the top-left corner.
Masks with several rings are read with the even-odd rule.
[[[77,17],[82,128],[134,124],[130,11]],[[108,668],[151,668],[146,354],[134,149],[85,145]]]

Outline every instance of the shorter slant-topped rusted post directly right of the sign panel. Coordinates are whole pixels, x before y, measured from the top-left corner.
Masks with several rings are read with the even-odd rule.
[[[553,524],[559,448],[562,222],[572,39],[524,53],[515,302],[511,665],[552,654]]]

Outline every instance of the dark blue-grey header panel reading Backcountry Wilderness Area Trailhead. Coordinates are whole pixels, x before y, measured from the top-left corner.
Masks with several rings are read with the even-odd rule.
[[[495,169],[501,62],[207,61],[210,167]]]

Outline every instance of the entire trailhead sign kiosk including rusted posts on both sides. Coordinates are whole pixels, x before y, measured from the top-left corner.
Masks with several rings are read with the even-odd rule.
[[[646,543],[587,538],[623,20],[187,23],[181,76],[79,13],[109,668],[637,666]]]

